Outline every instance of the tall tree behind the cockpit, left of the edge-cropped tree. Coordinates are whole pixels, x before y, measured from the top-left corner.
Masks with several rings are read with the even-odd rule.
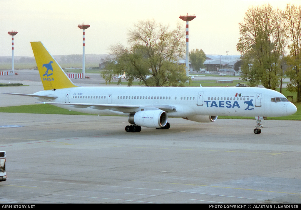
[[[239,26],[237,51],[242,54],[242,78],[249,80],[250,86],[262,84],[275,90],[285,47],[282,11],[273,10],[269,4],[251,7]]]

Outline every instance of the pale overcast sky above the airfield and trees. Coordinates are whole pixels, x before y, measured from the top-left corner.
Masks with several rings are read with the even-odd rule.
[[[53,55],[82,54],[85,23],[85,53],[107,54],[111,44],[127,45],[128,29],[138,20],[155,19],[171,29],[180,15],[194,14],[189,22],[189,50],[206,54],[238,55],[238,23],[250,6],[270,3],[284,9],[295,1],[255,0],[0,0],[0,56],[11,56],[9,31],[14,36],[14,55],[33,56],[30,41],[42,41]]]

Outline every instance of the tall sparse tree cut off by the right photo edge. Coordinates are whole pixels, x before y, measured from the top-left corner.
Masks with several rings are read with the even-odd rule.
[[[301,6],[287,5],[284,10],[286,36],[290,40],[286,57],[289,68],[286,72],[291,83],[287,89],[297,92],[297,102],[301,101]]]

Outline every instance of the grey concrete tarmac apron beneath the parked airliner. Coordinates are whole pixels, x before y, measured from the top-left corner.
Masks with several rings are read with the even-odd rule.
[[[255,135],[256,120],[169,118],[168,130],[127,133],[127,117],[0,119],[0,203],[301,202],[301,121],[264,120]]]

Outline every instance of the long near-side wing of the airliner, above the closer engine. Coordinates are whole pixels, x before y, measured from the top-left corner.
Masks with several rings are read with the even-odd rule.
[[[85,103],[58,103],[58,102],[36,102],[36,103],[44,103],[51,105],[68,105],[75,108],[88,108],[91,107],[93,109],[110,109],[113,111],[121,111],[123,113],[132,113],[141,111],[141,108],[154,108],[160,109],[166,112],[176,111],[176,107],[170,105],[119,105],[119,104],[85,104]]]

